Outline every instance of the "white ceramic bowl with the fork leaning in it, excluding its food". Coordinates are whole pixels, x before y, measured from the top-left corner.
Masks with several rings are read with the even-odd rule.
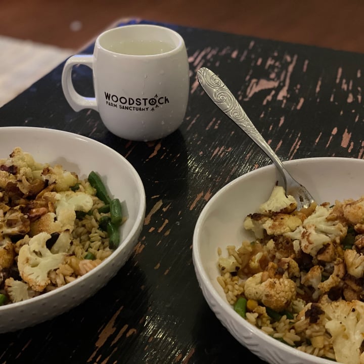
[[[364,195],[364,161],[350,158],[308,158],[284,163],[293,177],[311,192],[317,202],[359,198]],[[193,237],[193,262],[202,293],[222,325],[244,346],[268,363],[330,364],[332,361],[302,353],[264,334],[245,321],[225,299],[217,283],[217,248],[226,254],[228,245],[239,246],[252,238],[243,229],[248,213],[269,198],[282,180],[269,165],[233,180],[218,191],[201,212]]]

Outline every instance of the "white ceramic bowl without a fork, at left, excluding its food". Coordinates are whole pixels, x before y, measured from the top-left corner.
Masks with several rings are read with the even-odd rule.
[[[61,164],[84,178],[92,170],[103,178],[111,196],[125,201],[128,219],[118,248],[99,266],[72,283],[26,301],[0,306],[0,333],[49,320],[80,304],[103,287],[129,258],[141,233],[146,208],[142,180],[119,153],[84,136],[36,127],[0,127],[0,158],[15,147],[42,163]]]

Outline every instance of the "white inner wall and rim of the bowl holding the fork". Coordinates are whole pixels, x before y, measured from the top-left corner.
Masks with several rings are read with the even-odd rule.
[[[305,186],[319,203],[334,203],[335,200],[356,199],[364,195],[362,160],[309,158],[289,161],[285,165],[292,176]],[[276,167],[269,165],[249,172],[223,187],[210,199],[199,216],[193,240],[197,276],[200,285],[207,290],[209,299],[213,297],[215,300],[212,306],[216,304],[219,310],[222,307],[224,312],[231,310],[231,317],[240,320],[248,330],[259,336],[257,330],[249,327],[245,320],[235,314],[217,283],[217,250],[220,247],[222,255],[227,256],[226,246],[240,246],[243,240],[252,240],[253,236],[243,229],[243,220],[248,213],[255,212],[259,204],[268,199],[276,181],[282,185]],[[291,348],[287,347],[287,350],[289,349]],[[298,350],[295,351],[301,356]],[[319,361],[329,362],[317,358],[317,362]]]

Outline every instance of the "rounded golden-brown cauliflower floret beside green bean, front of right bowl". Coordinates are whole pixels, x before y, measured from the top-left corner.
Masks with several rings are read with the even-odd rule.
[[[287,278],[268,278],[262,282],[263,273],[259,272],[247,279],[244,295],[255,299],[276,311],[287,308],[296,297],[296,285]]]

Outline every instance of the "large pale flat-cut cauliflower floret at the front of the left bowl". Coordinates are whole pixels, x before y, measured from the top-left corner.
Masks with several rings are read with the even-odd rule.
[[[49,271],[58,268],[65,260],[65,253],[52,254],[47,248],[50,238],[48,233],[39,233],[19,250],[19,274],[34,291],[43,291],[50,283]]]

